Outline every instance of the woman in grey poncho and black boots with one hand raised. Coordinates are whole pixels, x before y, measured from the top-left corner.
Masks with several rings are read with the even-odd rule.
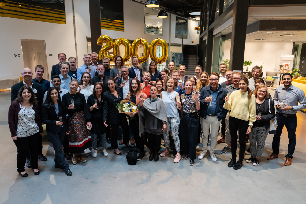
[[[158,161],[160,139],[162,132],[165,132],[167,128],[167,112],[163,100],[156,97],[157,88],[155,85],[150,87],[150,94],[151,98],[146,100],[140,98],[138,105],[139,134],[147,132],[150,149],[149,160]]]

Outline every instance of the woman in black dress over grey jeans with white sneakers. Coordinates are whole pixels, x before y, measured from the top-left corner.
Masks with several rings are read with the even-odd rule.
[[[97,157],[97,135],[101,135],[101,145],[103,148],[104,156],[108,156],[106,151],[106,128],[103,123],[103,104],[102,104],[102,94],[104,93],[104,88],[100,82],[94,84],[94,90],[92,95],[88,96],[87,106],[91,113],[91,142],[94,152],[93,157]]]

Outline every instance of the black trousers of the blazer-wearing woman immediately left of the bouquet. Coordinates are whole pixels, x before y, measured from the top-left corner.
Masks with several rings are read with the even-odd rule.
[[[117,123],[110,123],[110,127],[112,128],[112,148],[118,149],[118,131],[119,125],[123,129],[123,143],[126,144],[129,142],[129,124],[126,120],[126,115],[124,113],[117,113]]]

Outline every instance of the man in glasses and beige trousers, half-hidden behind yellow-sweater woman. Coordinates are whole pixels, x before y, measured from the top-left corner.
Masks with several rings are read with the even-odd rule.
[[[233,72],[233,83],[230,86],[227,86],[225,89],[228,91],[228,94],[231,94],[233,91],[239,90],[239,80],[242,78],[241,72]],[[226,117],[225,117],[225,147],[221,151],[221,154],[226,154],[226,152],[230,151],[230,111],[227,111]]]

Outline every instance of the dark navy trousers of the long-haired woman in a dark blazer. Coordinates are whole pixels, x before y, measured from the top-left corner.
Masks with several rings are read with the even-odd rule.
[[[62,145],[64,143],[65,138],[65,129],[62,128],[61,132],[58,134],[53,134],[51,132],[47,132],[47,137],[53,144],[54,150],[55,150],[55,158],[54,163],[57,166],[62,167],[63,169],[69,169],[69,165],[67,164],[67,161],[65,160],[65,157],[63,155]]]

